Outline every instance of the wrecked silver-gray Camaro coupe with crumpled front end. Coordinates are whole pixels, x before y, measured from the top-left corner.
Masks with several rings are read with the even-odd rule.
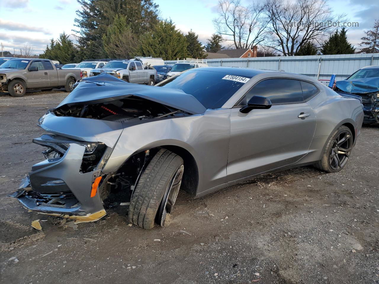
[[[150,229],[179,190],[198,198],[309,164],[338,172],[362,120],[359,98],[292,73],[202,67],[154,87],[102,73],[39,119],[46,159],[12,196],[76,222],[125,202],[129,221]]]

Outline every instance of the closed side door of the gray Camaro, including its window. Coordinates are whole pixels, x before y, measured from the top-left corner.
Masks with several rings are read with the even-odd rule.
[[[254,95],[268,97],[269,109],[240,108]],[[299,80],[274,78],[258,82],[231,109],[228,180],[292,164],[308,153],[316,116],[304,101]]]

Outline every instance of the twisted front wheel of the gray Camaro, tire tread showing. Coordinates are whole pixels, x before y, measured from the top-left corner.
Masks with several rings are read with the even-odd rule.
[[[129,221],[152,229],[155,223],[164,225],[178,196],[183,176],[183,159],[161,149],[152,158],[136,184],[129,206]]]

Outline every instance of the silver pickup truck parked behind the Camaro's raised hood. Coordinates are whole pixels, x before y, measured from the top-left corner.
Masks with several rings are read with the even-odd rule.
[[[147,84],[154,86],[157,78],[157,70],[149,68],[139,60],[112,60],[102,68],[92,69],[89,76],[99,75],[106,72],[128,83]]]

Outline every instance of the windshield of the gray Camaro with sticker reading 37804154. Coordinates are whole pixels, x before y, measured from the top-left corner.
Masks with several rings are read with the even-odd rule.
[[[215,109],[221,108],[244,85],[241,81],[235,81],[233,76],[251,78],[246,75],[195,69],[173,76],[158,86],[182,90],[193,95],[205,108]]]

